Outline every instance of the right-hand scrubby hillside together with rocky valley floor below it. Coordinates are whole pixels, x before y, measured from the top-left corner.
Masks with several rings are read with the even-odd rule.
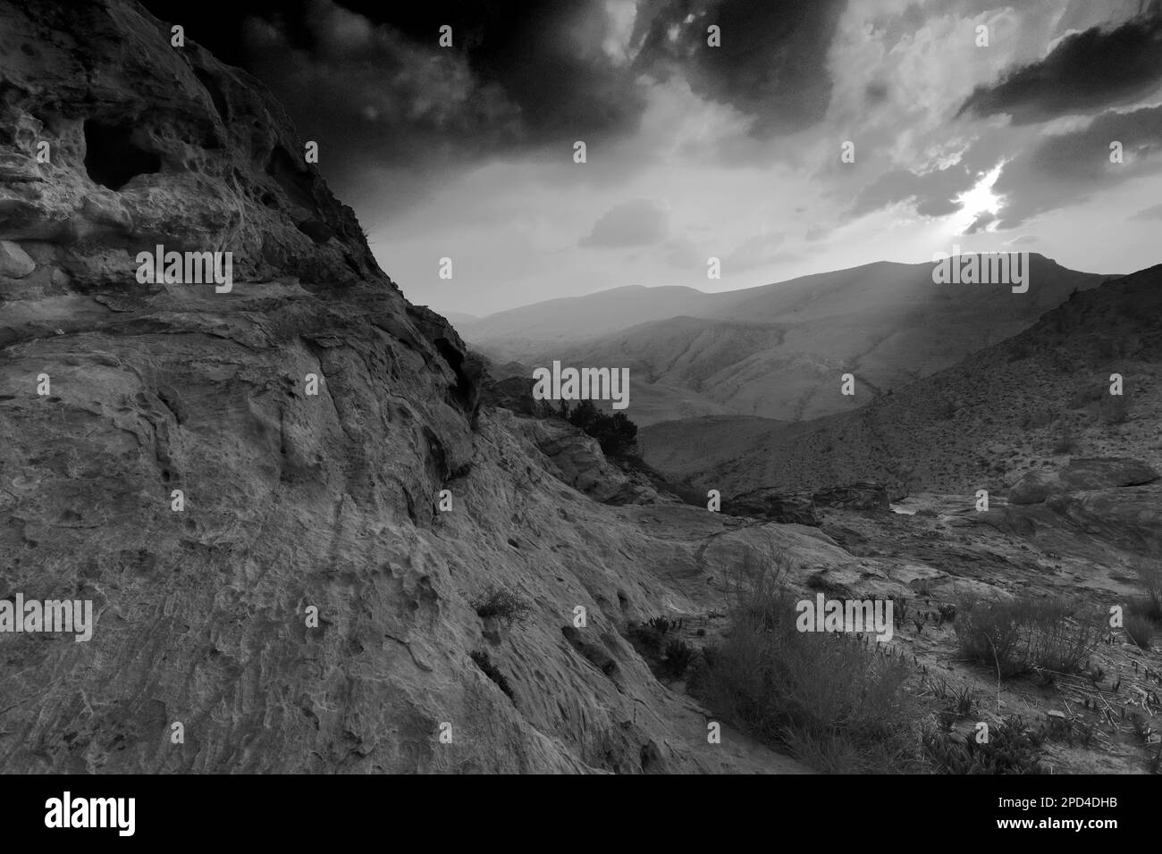
[[[817,526],[851,555],[808,587],[895,595],[885,579],[906,584],[913,615],[930,618],[905,622],[892,645],[914,656],[918,696],[939,706],[969,688],[985,719],[1054,727],[1045,749],[1056,773],[1149,769],[1162,712],[1156,641],[1141,650],[1113,630],[1089,665],[1099,679],[998,686],[960,658],[954,624],[931,617],[966,594],[1068,597],[1107,613],[1162,567],[1160,279],[1153,267],[1077,293],[1017,337],[855,412],[657,424],[641,431],[643,455],[687,494],[718,489],[725,510]],[[855,481],[885,495],[865,488],[867,509],[820,501],[819,490]],[[875,509],[884,497],[896,512]]]

